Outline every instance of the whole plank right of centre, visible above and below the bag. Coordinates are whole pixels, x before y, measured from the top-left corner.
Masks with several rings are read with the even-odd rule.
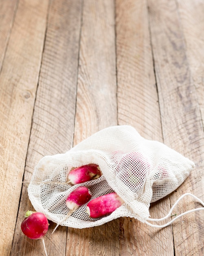
[[[118,122],[162,141],[148,20],[145,1],[116,0]],[[150,207],[152,218],[168,211],[168,197]],[[134,218],[121,218],[120,227],[121,256],[173,255],[171,227],[158,232]]]

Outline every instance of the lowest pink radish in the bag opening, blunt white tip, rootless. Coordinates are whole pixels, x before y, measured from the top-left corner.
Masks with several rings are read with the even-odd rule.
[[[86,212],[91,218],[99,218],[112,213],[124,203],[116,192],[101,195],[91,200],[86,207]]]

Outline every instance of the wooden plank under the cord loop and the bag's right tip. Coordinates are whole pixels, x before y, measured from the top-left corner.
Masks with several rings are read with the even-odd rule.
[[[189,178],[172,193],[171,204],[185,192],[203,200],[204,134],[177,6],[173,0],[148,0],[148,4],[164,141],[196,164]],[[175,213],[195,207],[198,204],[192,198],[185,198]],[[175,256],[202,255],[203,228],[202,212],[176,220],[173,224]]]

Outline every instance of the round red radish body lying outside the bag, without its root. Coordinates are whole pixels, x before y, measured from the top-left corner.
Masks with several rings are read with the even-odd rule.
[[[21,223],[21,230],[31,239],[41,239],[47,233],[48,226],[48,219],[43,213],[27,211]]]

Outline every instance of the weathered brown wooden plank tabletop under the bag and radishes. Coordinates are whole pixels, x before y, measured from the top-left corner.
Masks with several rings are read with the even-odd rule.
[[[186,192],[204,200],[203,119],[203,0],[0,0],[0,255],[45,255],[20,230],[33,169],[108,126],[131,125],[195,162],[152,218]],[[186,197],[173,213],[197,207]],[[48,256],[204,255],[203,211],[163,229],[125,217],[54,227]]]

